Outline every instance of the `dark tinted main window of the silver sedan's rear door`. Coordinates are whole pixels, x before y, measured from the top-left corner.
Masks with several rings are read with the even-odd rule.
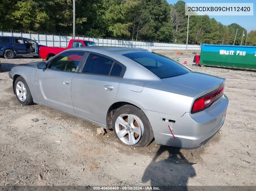
[[[104,56],[90,54],[82,72],[90,74],[108,75],[112,64],[113,61]]]

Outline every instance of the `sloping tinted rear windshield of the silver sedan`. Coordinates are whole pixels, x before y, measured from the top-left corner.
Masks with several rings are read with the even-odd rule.
[[[177,62],[156,53],[136,52],[123,54],[123,56],[138,62],[140,65],[143,65],[159,78],[171,78],[190,72]]]

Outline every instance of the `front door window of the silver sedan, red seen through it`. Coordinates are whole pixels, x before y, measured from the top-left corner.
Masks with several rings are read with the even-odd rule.
[[[48,68],[53,70],[75,72],[78,63],[83,58],[85,53],[81,52],[67,52],[52,59]]]

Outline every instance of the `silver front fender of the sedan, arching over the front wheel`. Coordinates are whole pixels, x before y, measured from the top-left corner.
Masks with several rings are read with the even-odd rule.
[[[37,67],[35,67],[35,66],[16,65],[11,69],[10,75],[12,76],[12,78],[14,78],[15,75],[22,76],[22,78],[24,78],[28,84],[28,88],[31,92],[33,100],[39,101],[36,90],[35,90],[35,72],[36,72],[36,70],[37,70]],[[13,83],[15,83],[15,82],[13,81]]]

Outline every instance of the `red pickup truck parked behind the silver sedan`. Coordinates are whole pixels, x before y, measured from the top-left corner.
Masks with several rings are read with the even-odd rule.
[[[48,60],[48,59],[51,59],[51,57],[55,56],[56,54],[62,52],[63,50],[66,50],[69,48],[84,47],[84,46],[97,46],[97,45],[95,44],[95,42],[89,41],[89,40],[71,39],[68,43],[67,48],[40,46],[39,56],[42,59]]]

